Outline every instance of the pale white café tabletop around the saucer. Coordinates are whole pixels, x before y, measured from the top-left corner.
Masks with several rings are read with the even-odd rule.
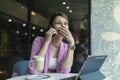
[[[68,74],[62,74],[62,73],[45,73],[47,75],[50,76],[50,78],[48,79],[42,79],[42,80],[61,80],[64,78],[70,78],[70,77],[74,77],[77,76],[77,73],[68,73]],[[17,77],[13,77],[13,78],[9,78],[6,80],[26,80],[27,77],[29,77],[31,75],[24,75],[24,76],[17,76]]]

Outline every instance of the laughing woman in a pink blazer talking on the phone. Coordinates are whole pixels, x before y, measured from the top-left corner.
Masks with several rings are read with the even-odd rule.
[[[69,73],[73,64],[75,43],[69,31],[68,18],[64,13],[55,13],[50,21],[45,37],[36,37],[33,41],[29,69],[27,73],[36,74],[34,56],[44,58],[43,73]],[[54,38],[52,37],[55,34]],[[62,39],[65,38],[67,43]]]

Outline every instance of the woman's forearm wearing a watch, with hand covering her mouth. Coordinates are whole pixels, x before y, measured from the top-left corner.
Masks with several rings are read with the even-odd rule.
[[[62,66],[65,68],[71,68],[73,65],[75,42],[74,42],[71,32],[68,29],[66,29],[65,27],[60,27],[60,33],[68,41],[68,50],[67,50],[67,54],[62,62]]]

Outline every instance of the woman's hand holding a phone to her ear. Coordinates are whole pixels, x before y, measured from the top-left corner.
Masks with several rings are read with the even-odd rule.
[[[51,27],[45,34],[46,42],[50,43],[50,41],[52,39],[52,35],[54,35],[54,34],[57,34],[57,32],[54,28]]]

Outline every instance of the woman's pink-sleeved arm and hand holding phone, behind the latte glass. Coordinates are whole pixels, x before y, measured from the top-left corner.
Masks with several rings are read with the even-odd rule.
[[[48,49],[48,45],[51,41],[51,37],[55,33],[56,33],[56,31],[53,28],[50,28],[46,32],[45,38],[37,37],[34,40],[33,45],[32,45],[32,50],[31,50],[31,58],[30,58],[30,62],[29,62],[29,69],[32,74],[36,73],[36,71],[34,69],[34,56],[38,55],[38,56],[42,56],[43,58],[45,58],[46,51]],[[43,63],[43,65],[44,65],[44,63]]]

